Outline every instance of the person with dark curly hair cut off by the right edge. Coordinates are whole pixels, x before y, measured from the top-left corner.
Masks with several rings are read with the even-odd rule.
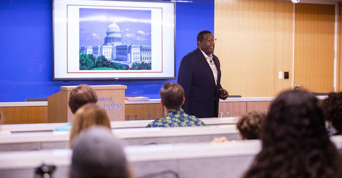
[[[329,93],[323,101],[323,111],[329,134],[342,134],[342,92]]]

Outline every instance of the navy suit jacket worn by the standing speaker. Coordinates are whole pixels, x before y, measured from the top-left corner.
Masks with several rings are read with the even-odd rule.
[[[185,102],[182,106],[185,113],[198,118],[218,117],[219,92],[221,87],[220,61],[215,56],[218,70],[218,81],[215,85],[213,72],[199,48],[185,55],[178,71],[177,83],[185,92]]]

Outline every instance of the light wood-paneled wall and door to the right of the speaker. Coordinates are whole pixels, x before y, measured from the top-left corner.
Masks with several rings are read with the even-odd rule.
[[[292,89],[293,79],[312,92],[332,91],[334,13],[334,5],[327,4],[215,0],[215,55],[221,62],[222,86],[231,95],[276,96]],[[339,56],[338,65],[339,71]],[[296,75],[305,70],[311,73]],[[279,72],[283,79],[278,79]],[[337,77],[340,83],[342,74]]]

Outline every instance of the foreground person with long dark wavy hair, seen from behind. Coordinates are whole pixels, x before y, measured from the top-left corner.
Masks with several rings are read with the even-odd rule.
[[[272,103],[261,136],[262,149],[244,178],[341,177],[339,155],[312,94],[291,90]]]

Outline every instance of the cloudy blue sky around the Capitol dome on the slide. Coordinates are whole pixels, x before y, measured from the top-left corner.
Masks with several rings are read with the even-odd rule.
[[[80,8],[80,47],[101,46],[115,21],[123,44],[151,45],[151,11]]]

